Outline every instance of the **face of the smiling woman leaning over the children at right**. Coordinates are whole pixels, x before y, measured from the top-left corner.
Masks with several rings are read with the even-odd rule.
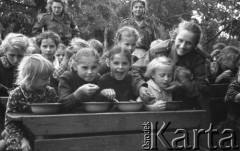
[[[180,30],[175,38],[175,50],[179,56],[191,52],[196,46],[196,36],[189,30]]]

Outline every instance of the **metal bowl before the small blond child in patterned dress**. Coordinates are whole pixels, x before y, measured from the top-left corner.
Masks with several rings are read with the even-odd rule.
[[[56,114],[59,113],[61,103],[31,103],[29,106],[34,114]]]

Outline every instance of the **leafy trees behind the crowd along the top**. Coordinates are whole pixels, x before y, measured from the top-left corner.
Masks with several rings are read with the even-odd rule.
[[[0,0],[0,32],[31,35],[36,16],[45,13],[47,0]],[[119,22],[129,16],[131,0],[68,0],[69,10],[79,26],[81,37],[96,38],[111,46]],[[195,20],[204,33],[201,42],[211,52],[216,42],[239,46],[238,0],[147,0],[147,15],[156,21],[161,39],[182,19]],[[197,18],[196,15],[198,16]],[[1,26],[2,24],[2,26]],[[223,30],[223,32],[221,32]],[[221,33],[221,34],[220,34]]]

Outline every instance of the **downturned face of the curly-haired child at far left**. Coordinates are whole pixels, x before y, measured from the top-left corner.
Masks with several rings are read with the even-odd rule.
[[[7,57],[11,65],[17,66],[19,62],[22,60],[24,54],[22,54],[21,51],[19,51],[18,49],[11,48],[7,50],[5,56]]]

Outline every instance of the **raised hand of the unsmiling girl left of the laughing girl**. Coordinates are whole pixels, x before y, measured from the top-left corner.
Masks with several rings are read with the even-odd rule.
[[[92,96],[93,94],[95,94],[97,92],[98,89],[99,89],[99,87],[95,84],[90,84],[90,83],[84,84],[74,92],[74,96],[76,98],[80,98],[81,94],[86,94],[88,96]]]

